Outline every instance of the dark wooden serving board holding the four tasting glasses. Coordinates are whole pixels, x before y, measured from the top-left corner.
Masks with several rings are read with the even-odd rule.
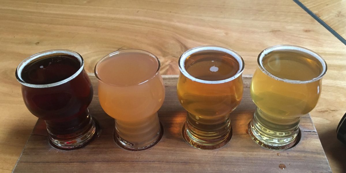
[[[230,142],[219,149],[201,150],[188,145],[181,135],[186,111],[176,95],[178,76],[164,75],[166,98],[158,111],[164,135],[154,147],[131,152],[115,144],[114,121],[100,107],[97,80],[89,75],[94,86],[89,110],[100,123],[101,135],[84,148],[61,151],[49,145],[44,121],[39,119],[13,172],[331,172],[309,115],[301,118],[301,140],[293,148],[273,151],[250,138],[247,125],[256,108],[249,93],[251,76],[243,77],[243,100],[231,113]]]

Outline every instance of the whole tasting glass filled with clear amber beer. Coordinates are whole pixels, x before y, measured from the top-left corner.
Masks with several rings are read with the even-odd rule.
[[[200,149],[216,149],[231,138],[230,113],[243,96],[244,61],[218,46],[192,48],[179,58],[177,94],[187,117],[183,138]]]

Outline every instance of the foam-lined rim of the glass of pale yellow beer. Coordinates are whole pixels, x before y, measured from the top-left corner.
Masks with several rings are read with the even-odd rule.
[[[262,62],[263,58],[268,53],[270,53],[272,51],[285,51],[285,50],[295,50],[295,51],[298,51],[298,52],[303,52],[303,53],[307,53],[307,54],[311,55],[312,57],[314,57],[315,59],[317,59],[321,63],[321,65],[322,65],[322,72],[316,78],[313,78],[313,79],[310,79],[310,80],[304,80],[304,81],[295,81],[295,80],[283,79],[283,78],[277,77],[277,76],[271,74],[270,72],[268,72],[264,68],[264,66],[263,66],[263,62]],[[258,64],[258,67],[261,69],[261,71],[264,74],[268,75],[269,77],[271,77],[271,78],[273,78],[275,80],[278,80],[278,81],[283,81],[283,82],[286,82],[286,83],[294,83],[294,84],[304,84],[304,83],[311,83],[311,82],[318,81],[327,72],[327,63],[320,55],[318,55],[316,52],[311,51],[310,49],[307,49],[307,48],[304,48],[304,47],[300,47],[300,46],[293,46],[293,45],[276,45],[276,46],[271,46],[271,47],[265,48],[258,55],[257,64]]]

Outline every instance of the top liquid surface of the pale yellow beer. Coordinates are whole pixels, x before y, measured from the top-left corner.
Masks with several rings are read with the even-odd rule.
[[[262,59],[264,69],[282,79],[307,81],[322,73],[322,64],[313,56],[294,51],[273,51]]]

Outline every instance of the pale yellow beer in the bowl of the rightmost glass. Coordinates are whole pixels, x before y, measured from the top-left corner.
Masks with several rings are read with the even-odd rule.
[[[263,58],[264,68],[282,79],[307,81],[317,78],[321,63],[311,55],[271,52]],[[293,118],[309,113],[317,104],[320,81],[306,84],[276,80],[257,69],[251,83],[251,97],[258,108],[278,118]]]

